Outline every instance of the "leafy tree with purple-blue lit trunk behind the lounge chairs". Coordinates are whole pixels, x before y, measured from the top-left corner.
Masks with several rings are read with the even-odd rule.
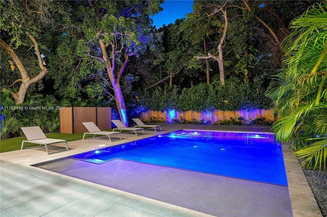
[[[128,126],[121,78],[129,59],[146,50],[151,42],[149,15],[158,12],[161,1],[81,1],[76,17],[84,39],[77,45],[83,58],[81,76],[102,80],[94,91],[116,101],[121,121]],[[108,80],[109,78],[109,80]],[[107,90],[109,87],[113,94]]]

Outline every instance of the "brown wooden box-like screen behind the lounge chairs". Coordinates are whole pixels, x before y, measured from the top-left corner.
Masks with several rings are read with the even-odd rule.
[[[60,110],[60,132],[87,132],[82,122],[94,122],[101,130],[111,129],[111,107],[65,107]]]

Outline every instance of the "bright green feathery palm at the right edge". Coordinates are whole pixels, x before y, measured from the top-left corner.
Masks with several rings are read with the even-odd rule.
[[[314,4],[291,22],[282,42],[284,69],[267,93],[281,117],[273,130],[303,165],[326,170],[327,159],[327,3]]]

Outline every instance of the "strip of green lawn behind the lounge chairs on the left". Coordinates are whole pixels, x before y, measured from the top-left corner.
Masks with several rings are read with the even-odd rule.
[[[108,131],[112,131],[112,130],[108,130]],[[122,132],[124,132],[124,131],[127,132],[128,130],[122,130]],[[49,133],[49,134],[46,134],[46,138],[66,140],[67,142],[69,142],[69,141],[83,139],[83,134],[84,134],[83,132],[75,133],[75,134],[70,134],[70,133]],[[101,136],[101,135],[99,135],[99,136]],[[92,137],[93,137],[93,135],[92,135]],[[86,136],[85,138],[88,138],[88,137]],[[7,152],[7,151],[20,150],[21,142],[23,140],[27,140],[27,138],[26,137],[18,137],[18,138],[11,138],[11,139],[6,139],[6,140],[1,140],[0,141],[0,153]],[[35,146],[35,144],[31,144],[31,146]],[[28,147],[28,145],[26,147]]]

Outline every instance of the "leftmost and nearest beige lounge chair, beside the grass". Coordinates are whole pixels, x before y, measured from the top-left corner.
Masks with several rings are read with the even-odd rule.
[[[34,147],[40,147],[41,145],[45,146],[46,152],[48,154],[53,154],[61,151],[68,151],[68,145],[66,140],[57,140],[57,139],[48,139],[46,138],[45,134],[41,130],[39,126],[32,126],[32,127],[21,127],[21,130],[24,132],[27,140],[23,140],[21,142],[21,150],[25,149],[24,145],[26,143],[34,143],[34,144],[39,144],[38,146],[33,146],[33,147],[28,147],[28,148],[34,148]],[[60,150],[56,152],[49,152],[48,145],[54,145],[58,143],[65,143],[66,149],[65,150]]]

